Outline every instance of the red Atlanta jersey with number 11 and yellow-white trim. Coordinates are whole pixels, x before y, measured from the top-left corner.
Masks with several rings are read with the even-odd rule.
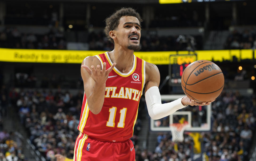
[[[113,64],[108,52],[96,57],[101,66],[106,62],[106,69]],[[89,110],[90,104],[84,95],[78,130],[101,140],[124,141],[131,138],[144,85],[144,60],[134,55],[129,73],[121,73],[114,67],[106,81],[105,99],[99,114],[94,115]]]

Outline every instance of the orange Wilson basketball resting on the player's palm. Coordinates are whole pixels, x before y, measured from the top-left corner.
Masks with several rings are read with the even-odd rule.
[[[224,75],[211,61],[195,61],[183,71],[181,86],[184,93],[195,102],[209,102],[221,94]]]

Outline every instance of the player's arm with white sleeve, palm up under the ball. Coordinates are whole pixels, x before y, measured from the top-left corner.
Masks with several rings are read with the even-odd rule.
[[[146,84],[145,99],[149,115],[152,119],[160,119],[173,114],[175,111],[187,105],[209,105],[211,102],[197,103],[190,100],[187,96],[179,98],[170,103],[161,103],[161,95],[158,89],[160,83],[160,73],[156,65],[146,62]]]

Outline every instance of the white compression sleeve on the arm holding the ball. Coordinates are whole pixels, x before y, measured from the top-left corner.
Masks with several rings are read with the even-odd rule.
[[[145,99],[149,116],[154,120],[169,116],[175,111],[187,107],[187,105],[183,106],[181,103],[182,98],[162,104],[161,95],[157,86],[150,87],[146,91]]]

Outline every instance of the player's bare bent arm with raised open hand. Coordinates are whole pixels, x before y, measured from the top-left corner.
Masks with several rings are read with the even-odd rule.
[[[83,87],[88,102],[88,107],[93,114],[97,115],[102,108],[106,90],[106,81],[110,71],[116,63],[106,70],[106,63],[101,62],[97,57],[86,57],[81,65],[81,76]]]

